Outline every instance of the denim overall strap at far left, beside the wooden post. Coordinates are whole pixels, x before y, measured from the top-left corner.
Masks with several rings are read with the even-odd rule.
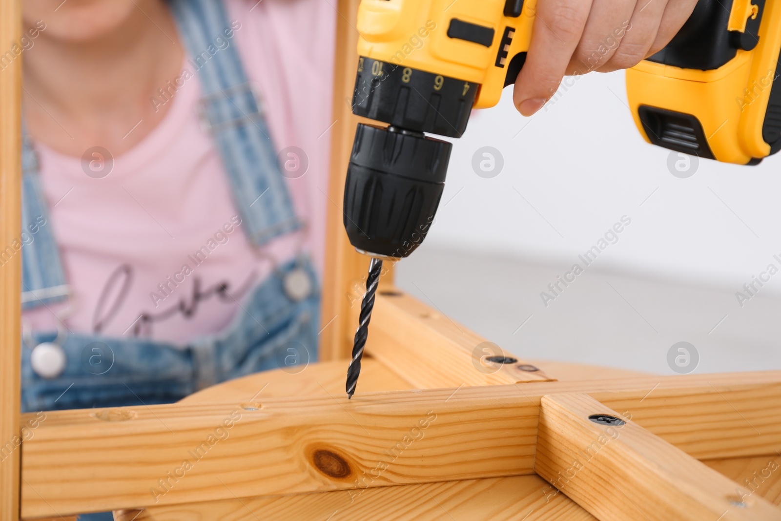
[[[48,216],[37,154],[24,130],[22,127],[22,309],[30,309],[66,299],[70,287]]]

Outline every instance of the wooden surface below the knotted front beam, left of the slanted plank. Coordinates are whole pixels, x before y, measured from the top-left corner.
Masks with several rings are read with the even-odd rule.
[[[555,492],[555,490],[554,490]],[[266,498],[229,499],[116,513],[118,521],[593,521],[539,476],[369,488]]]

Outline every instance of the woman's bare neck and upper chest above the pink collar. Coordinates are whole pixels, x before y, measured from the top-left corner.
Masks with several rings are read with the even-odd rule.
[[[75,156],[102,146],[117,157],[160,123],[169,104],[150,98],[177,77],[184,49],[166,6],[142,3],[95,40],[40,32],[24,55],[24,117],[35,141]]]

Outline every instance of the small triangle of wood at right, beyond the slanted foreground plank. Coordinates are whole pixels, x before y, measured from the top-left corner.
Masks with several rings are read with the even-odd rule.
[[[736,481],[750,495],[757,494],[781,506],[781,456],[778,453],[754,458],[705,459],[703,463]]]

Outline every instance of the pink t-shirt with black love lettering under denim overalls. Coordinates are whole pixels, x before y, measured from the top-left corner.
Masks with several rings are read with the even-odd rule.
[[[166,118],[114,158],[107,177],[88,177],[80,158],[36,145],[48,226],[73,292],[70,330],[184,344],[226,327],[275,262],[308,252],[322,273],[336,12],[322,0],[225,3],[241,23],[230,45],[263,98],[276,151],[295,146],[308,156],[306,173],[287,179],[308,230],[260,251],[248,244],[219,152],[198,120],[198,75],[185,62],[194,75]],[[203,262],[195,256],[202,247],[210,252]],[[230,297],[218,291],[223,285]],[[41,306],[24,318],[33,330],[54,330],[65,307]],[[138,320],[142,314],[152,319]]]

